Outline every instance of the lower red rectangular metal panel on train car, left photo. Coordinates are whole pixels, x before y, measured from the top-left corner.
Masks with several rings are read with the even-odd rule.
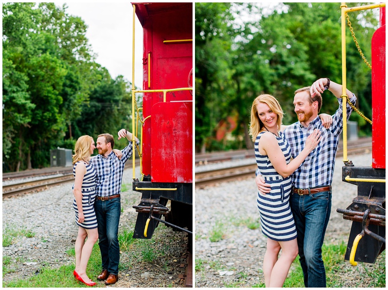
[[[158,103],[151,119],[151,181],[192,183],[193,102]]]

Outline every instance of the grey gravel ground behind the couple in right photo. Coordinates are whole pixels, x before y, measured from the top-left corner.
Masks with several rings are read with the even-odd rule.
[[[348,159],[355,166],[372,164],[371,153],[348,156]],[[219,164],[220,168],[223,166],[225,163]],[[351,204],[357,196],[357,186],[342,182],[342,166],[342,157],[336,158],[332,209],[324,244],[340,244],[342,241],[347,244],[348,241],[352,222],[344,220],[336,210],[346,209]],[[197,168],[203,171],[204,167]],[[264,282],[262,260],[267,238],[260,227],[248,228],[249,223],[259,222],[258,190],[254,178],[219,183],[195,191],[196,287],[252,287]],[[361,265],[353,267],[345,262],[342,287],[368,287],[369,281],[365,278],[362,281],[359,271],[364,271],[366,265],[373,272],[377,265]]]

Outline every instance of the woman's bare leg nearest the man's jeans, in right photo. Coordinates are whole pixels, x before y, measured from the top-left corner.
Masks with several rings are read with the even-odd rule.
[[[287,278],[293,260],[298,256],[298,244],[296,238],[291,241],[278,243],[282,248],[282,253],[272,269],[269,287],[281,288]]]

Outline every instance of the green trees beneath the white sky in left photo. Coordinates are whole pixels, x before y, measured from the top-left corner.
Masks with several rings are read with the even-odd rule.
[[[2,8],[3,172],[49,166],[51,149],[129,127],[129,83],[94,61],[80,17],[65,4]]]

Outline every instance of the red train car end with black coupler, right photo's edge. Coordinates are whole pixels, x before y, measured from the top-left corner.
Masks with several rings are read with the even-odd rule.
[[[371,6],[380,7],[380,27],[372,37],[372,166],[345,162],[342,181],[357,185],[357,197],[346,210],[337,209],[344,219],[353,221],[345,254],[352,265],[357,261],[374,263],[386,241],[385,4]]]

